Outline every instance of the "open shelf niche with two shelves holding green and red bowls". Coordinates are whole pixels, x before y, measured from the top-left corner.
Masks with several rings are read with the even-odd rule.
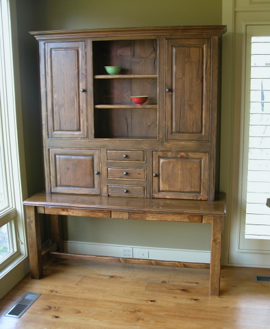
[[[158,136],[157,40],[93,41],[95,138]],[[104,66],[121,66],[117,75]],[[131,96],[147,95],[141,106]]]

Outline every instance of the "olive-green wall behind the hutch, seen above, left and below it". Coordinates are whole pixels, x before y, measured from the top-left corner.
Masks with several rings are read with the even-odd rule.
[[[35,50],[37,45],[34,38],[27,34],[28,31],[221,25],[222,19],[222,0],[17,0],[17,6],[19,34],[22,38],[20,56],[24,65],[21,83],[24,94],[23,117],[29,194],[36,193],[43,180],[40,173],[42,156],[36,71],[38,60]],[[66,232],[69,232],[66,239],[72,241],[175,249],[210,249],[208,225],[74,218],[67,220],[66,228]],[[194,241],[197,241],[196,245]]]

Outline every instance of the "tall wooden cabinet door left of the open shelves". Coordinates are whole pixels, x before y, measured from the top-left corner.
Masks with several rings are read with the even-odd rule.
[[[86,138],[84,42],[47,43],[45,56],[48,135],[53,138]]]

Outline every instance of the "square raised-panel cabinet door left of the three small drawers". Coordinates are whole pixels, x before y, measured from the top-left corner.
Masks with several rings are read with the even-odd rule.
[[[49,149],[52,193],[100,195],[98,149]]]

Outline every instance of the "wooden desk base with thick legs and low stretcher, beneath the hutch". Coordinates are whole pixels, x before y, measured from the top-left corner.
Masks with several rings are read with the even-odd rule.
[[[223,218],[226,214],[225,194],[217,201],[193,201],[177,199],[143,199],[135,197],[100,197],[90,195],[64,195],[38,193],[23,202],[27,216],[29,260],[32,278],[43,275],[42,249],[39,214],[50,215],[55,256],[62,258],[82,258],[94,260],[121,261],[121,263],[147,263],[156,265],[176,265],[178,267],[209,268],[206,264],[137,260],[133,258],[112,258],[90,255],[71,255],[60,252],[61,229],[59,215],[101,217],[118,219],[140,219],[147,221],[177,221],[212,224],[210,285],[209,294],[219,295],[221,274],[221,240]]]

